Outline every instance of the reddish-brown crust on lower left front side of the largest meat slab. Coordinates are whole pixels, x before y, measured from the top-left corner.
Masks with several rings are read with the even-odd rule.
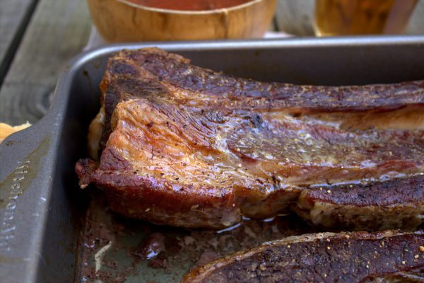
[[[101,170],[95,170],[94,161],[80,159],[76,173],[81,187],[95,183],[105,191],[114,212],[155,224],[194,228],[219,229],[227,222],[229,226],[241,220],[235,195],[230,192],[213,187],[183,187],[160,178],[141,177],[108,148],[102,153],[101,164]]]

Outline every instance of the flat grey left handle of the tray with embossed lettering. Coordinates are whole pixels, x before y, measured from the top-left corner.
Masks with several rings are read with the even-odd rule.
[[[51,116],[51,115],[49,115]],[[0,144],[2,282],[35,282],[53,182],[59,124],[43,118]]]

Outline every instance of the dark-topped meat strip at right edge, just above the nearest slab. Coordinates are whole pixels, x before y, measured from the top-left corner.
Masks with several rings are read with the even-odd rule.
[[[303,190],[293,210],[324,229],[416,229],[423,223],[424,176]]]

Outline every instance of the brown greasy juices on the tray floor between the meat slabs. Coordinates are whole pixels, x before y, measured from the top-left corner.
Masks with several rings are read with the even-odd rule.
[[[237,250],[315,230],[297,216],[244,219],[221,231],[156,226],[124,218],[95,193],[86,214],[79,282],[179,282],[194,267]]]

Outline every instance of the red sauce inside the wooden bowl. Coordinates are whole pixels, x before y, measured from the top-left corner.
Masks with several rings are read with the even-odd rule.
[[[151,8],[179,11],[209,11],[245,4],[252,0],[128,0]]]

